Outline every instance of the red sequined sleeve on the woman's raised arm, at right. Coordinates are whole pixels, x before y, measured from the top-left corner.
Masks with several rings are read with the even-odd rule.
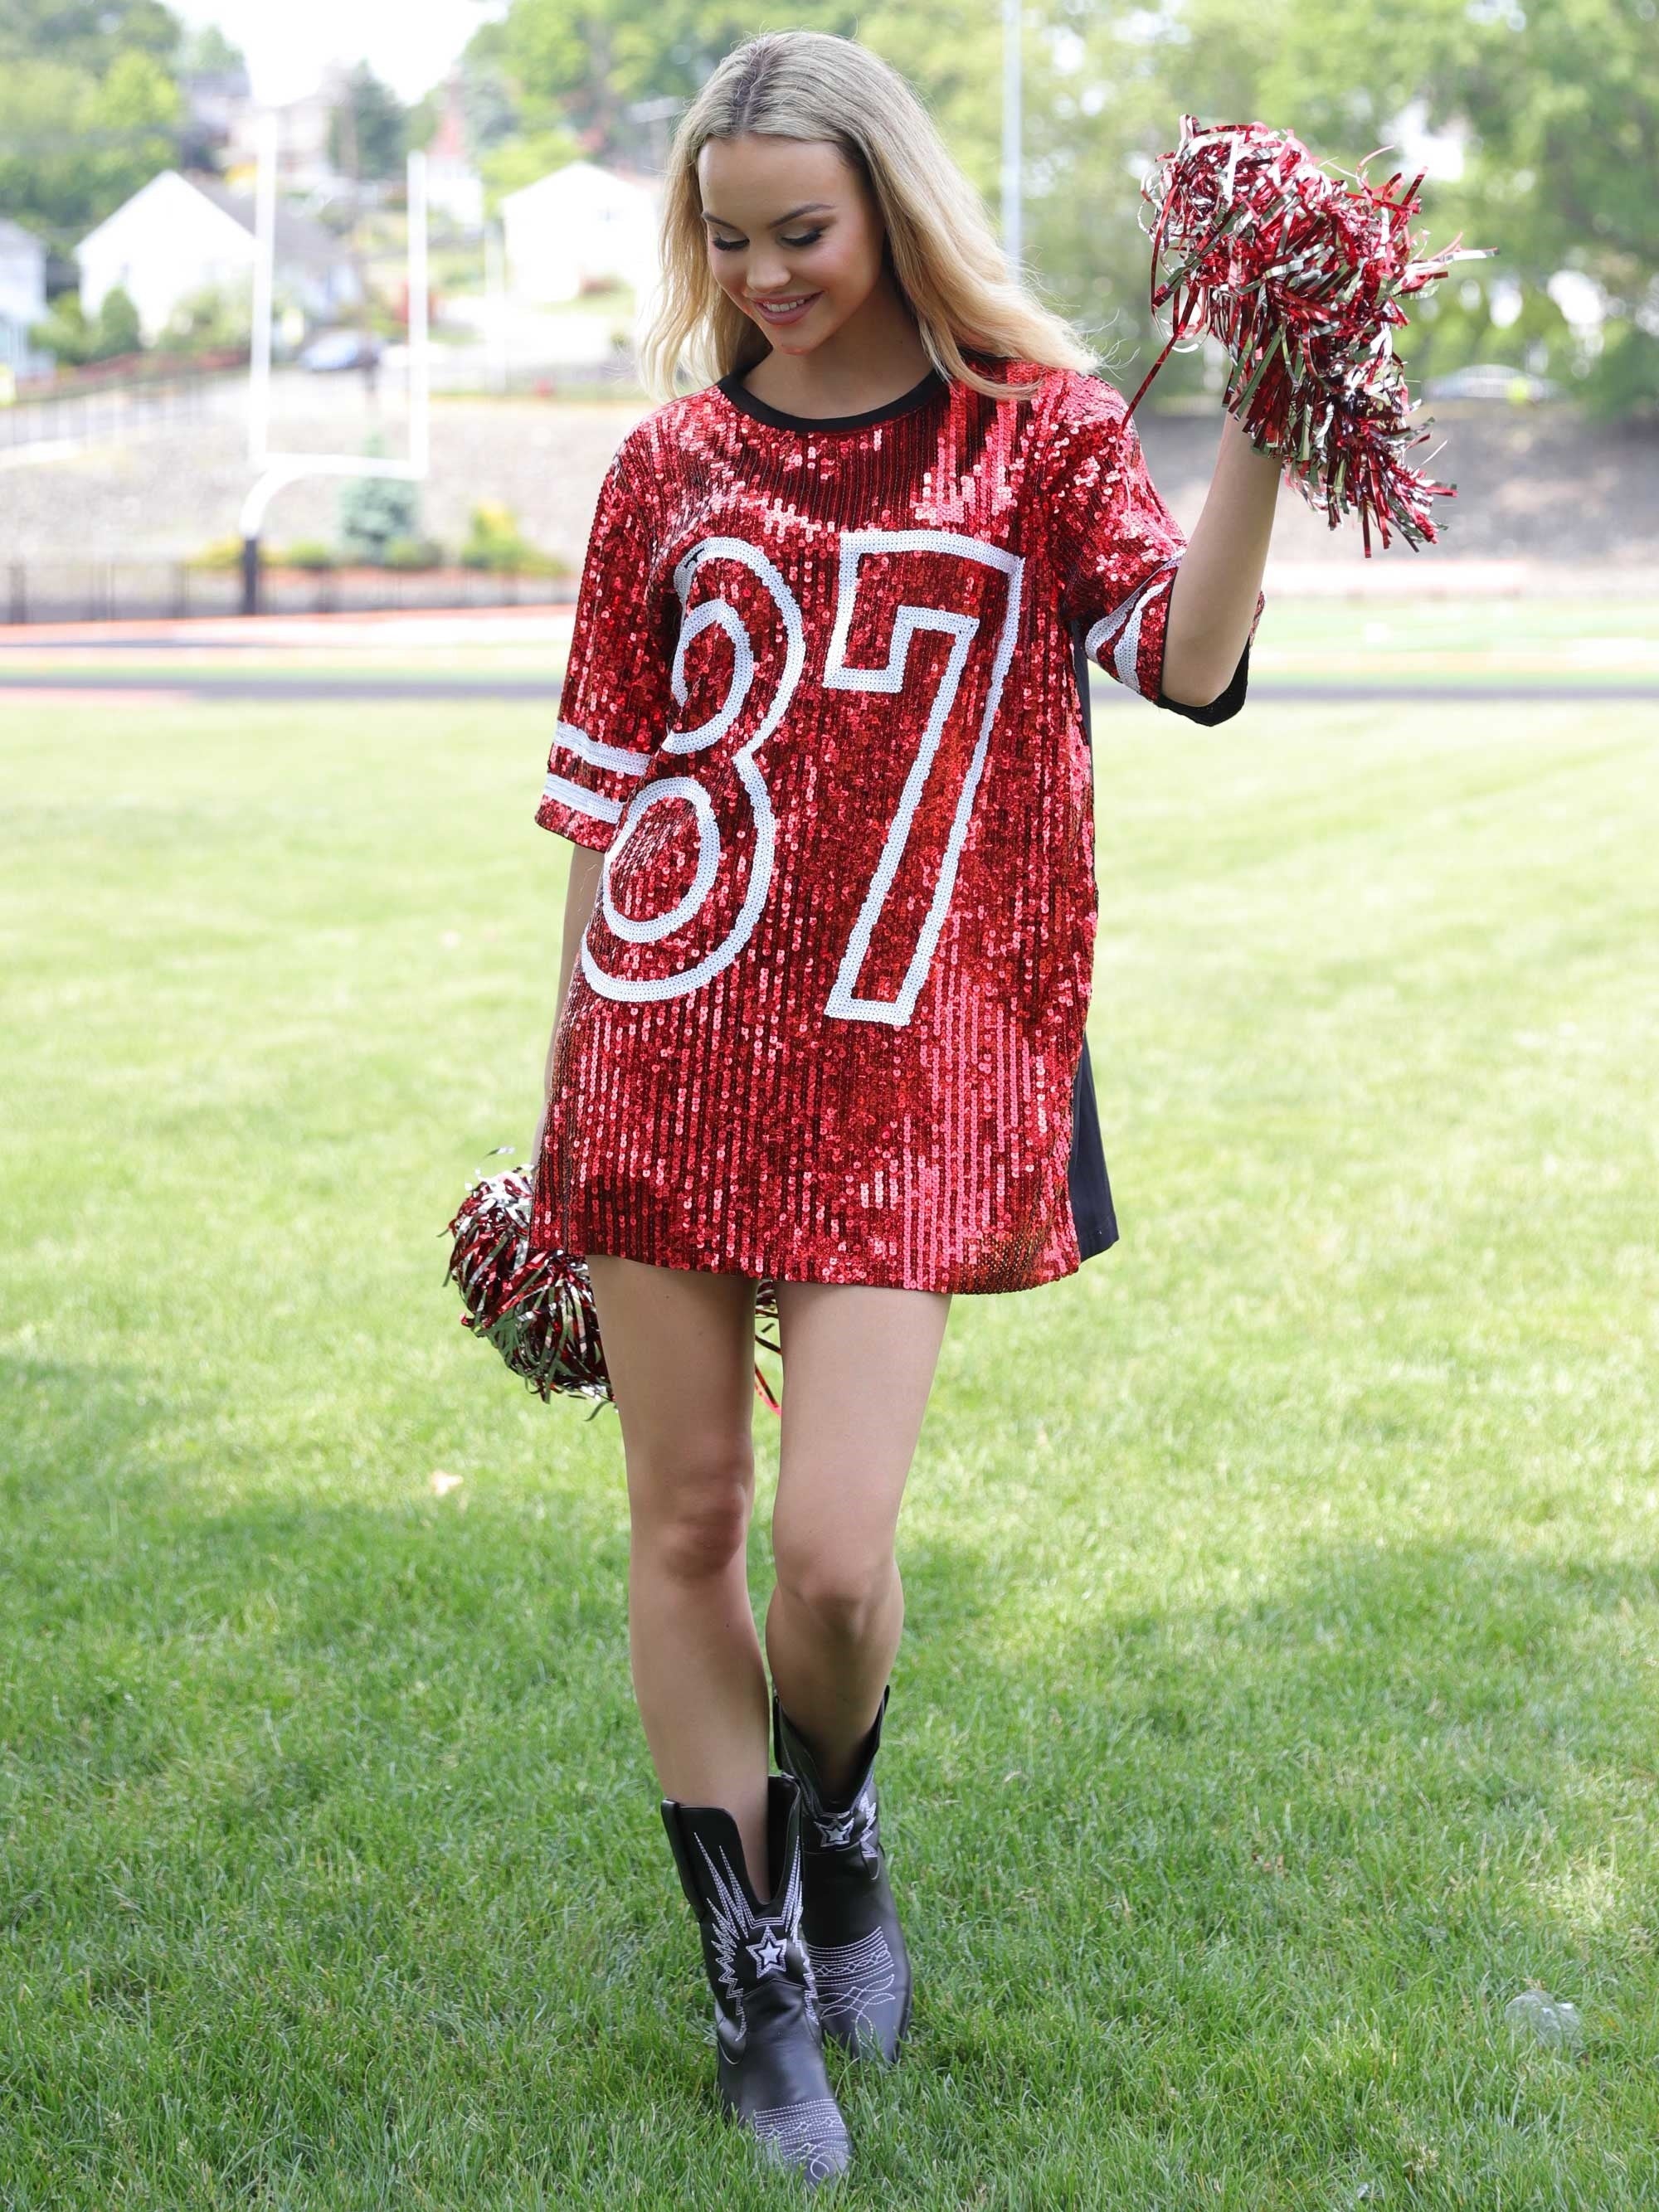
[[[1250,681],[1250,644],[1228,688],[1208,706],[1164,692],[1170,586],[1186,538],[1146,471],[1139,434],[1113,385],[1082,372],[1066,376],[1048,418],[1040,484],[1062,617],[1082,635],[1088,659],[1188,721],[1237,714]],[[1256,622],[1261,606],[1256,599]]]

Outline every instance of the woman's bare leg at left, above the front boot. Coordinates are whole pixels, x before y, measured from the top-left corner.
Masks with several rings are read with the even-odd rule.
[[[628,1469],[628,1650],[664,1796],[723,1805],[770,1896],[770,1705],[745,1540],[754,1283],[588,1254]]]

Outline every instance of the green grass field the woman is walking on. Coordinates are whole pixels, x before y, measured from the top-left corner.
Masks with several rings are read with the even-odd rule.
[[[533,1126],[546,710],[0,732],[0,2203],[799,2201],[712,2104],[615,1413],[440,1283]],[[1097,790],[1124,1243],[951,1314],[843,2201],[1648,2205],[1652,730],[1137,710]]]

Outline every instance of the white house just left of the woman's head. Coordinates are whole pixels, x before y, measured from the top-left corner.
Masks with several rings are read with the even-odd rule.
[[[657,283],[661,179],[566,161],[502,199],[507,276],[520,299],[562,301],[604,283]]]

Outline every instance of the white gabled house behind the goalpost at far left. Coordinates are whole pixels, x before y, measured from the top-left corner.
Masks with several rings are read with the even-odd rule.
[[[91,230],[75,259],[86,314],[97,314],[104,296],[122,285],[153,341],[192,294],[252,283],[254,204],[215,177],[166,168]],[[283,206],[276,208],[276,299],[319,323],[361,299],[358,274],[338,239]]]

